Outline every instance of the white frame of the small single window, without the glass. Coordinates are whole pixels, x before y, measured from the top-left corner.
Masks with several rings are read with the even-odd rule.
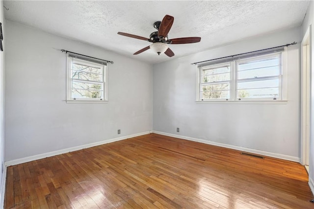
[[[77,80],[75,78],[72,78],[72,64],[73,64],[74,59],[76,59],[75,60],[76,62],[85,64],[87,66],[92,66],[92,67],[97,67],[97,68],[102,69],[103,81],[97,82],[103,85],[103,90],[101,91],[102,92],[101,98],[74,98],[72,97],[72,82]],[[67,103],[108,103],[108,87],[107,87],[108,86],[108,69],[105,63],[101,63],[97,60],[80,57],[78,55],[68,53],[66,75],[67,75],[67,84],[66,84],[66,102]]]

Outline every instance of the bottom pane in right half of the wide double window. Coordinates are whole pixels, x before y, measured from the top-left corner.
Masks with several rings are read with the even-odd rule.
[[[237,98],[278,98],[279,88],[239,89]]]

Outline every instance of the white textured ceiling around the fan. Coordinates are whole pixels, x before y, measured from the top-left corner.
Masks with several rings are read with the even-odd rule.
[[[3,1],[5,19],[40,28],[148,63],[158,63],[289,27],[300,26],[309,1]],[[172,58],[148,50],[150,43],[118,35],[149,38],[154,22],[174,17],[169,39],[199,36],[201,42],[169,45]],[[71,51],[71,49],[66,49]]]

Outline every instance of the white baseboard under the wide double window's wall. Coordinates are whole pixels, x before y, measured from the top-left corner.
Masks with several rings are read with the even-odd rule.
[[[213,141],[208,141],[208,140],[204,140],[204,139],[198,139],[198,138],[182,136],[182,135],[177,135],[177,134],[172,134],[172,133],[165,133],[165,132],[160,132],[160,131],[153,131],[153,133],[157,133],[157,134],[165,135],[165,136],[172,136],[175,138],[186,139],[186,140],[190,140],[190,141],[196,141],[196,142],[200,142],[200,143],[204,143],[204,144],[210,144],[210,145],[214,145],[214,146],[218,146],[218,147],[230,148],[230,149],[239,150],[239,151],[248,152],[248,153],[254,153],[254,154],[268,156],[268,157],[286,159],[286,160],[293,161],[293,162],[300,162],[299,157],[287,156],[287,155],[282,155],[282,154],[277,154],[277,153],[270,153],[270,152],[266,152],[266,151],[262,151],[262,150],[255,150],[255,149],[250,149],[250,148],[245,148],[245,147],[238,147],[238,146],[234,146],[234,145],[223,144],[223,143],[219,143],[219,142],[213,142]]]

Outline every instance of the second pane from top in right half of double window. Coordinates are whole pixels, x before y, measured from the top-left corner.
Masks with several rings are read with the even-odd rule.
[[[278,76],[279,75],[279,67],[265,67],[265,68],[258,68],[252,70],[244,70],[238,71],[238,79],[244,78],[261,78],[267,76]]]

